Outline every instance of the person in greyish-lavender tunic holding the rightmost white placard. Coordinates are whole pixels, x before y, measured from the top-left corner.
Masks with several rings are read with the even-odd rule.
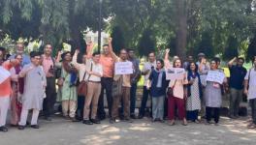
[[[210,62],[210,71],[207,76],[205,91],[207,125],[211,124],[211,111],[214,111],[214,122],[218,125],[219,111],[222,103],[222,86],[227,81],[222,70],[218,69],[218,58]]]

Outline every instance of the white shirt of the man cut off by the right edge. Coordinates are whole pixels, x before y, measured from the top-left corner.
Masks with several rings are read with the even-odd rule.
[[[250,78],[250,79],[249,79]],[[251,69],[248,71],[244,77],[245,80],[249,79],[249,90],[248,90],[248,99],[256,99],[256,71]]]

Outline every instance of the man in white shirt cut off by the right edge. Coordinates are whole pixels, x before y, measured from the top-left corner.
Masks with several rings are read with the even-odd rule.
[[[256,128],[256,57],[254,57],[252,62],[253,68],[244,77],[244,94],[247,95],[249,100],[252,118],[252,123],[248,125],[248,129]]]

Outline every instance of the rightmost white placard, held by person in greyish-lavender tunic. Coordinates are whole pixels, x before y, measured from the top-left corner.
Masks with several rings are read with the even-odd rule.
[[[223,83],[225,74],[217,71],[208,71],[207,81]]]

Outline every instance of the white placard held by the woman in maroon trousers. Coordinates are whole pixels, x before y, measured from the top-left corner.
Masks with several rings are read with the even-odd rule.
[[[183,68],[169,68],[166,69],[166,79],[176,80],[184,78],[185,70]]]

